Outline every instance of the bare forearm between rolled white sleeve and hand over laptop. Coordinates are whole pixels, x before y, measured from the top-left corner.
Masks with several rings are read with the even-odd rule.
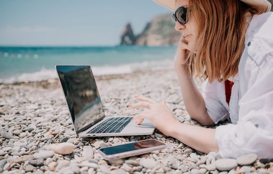
[[[218,152],[218,144],[215,140],[215,129],[187,125],[177,121],[169,128],[169,136],[182,143],[208,154]]]

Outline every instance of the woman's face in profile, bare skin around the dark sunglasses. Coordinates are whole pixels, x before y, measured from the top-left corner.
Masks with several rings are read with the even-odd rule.
[[[184,6],[187,7],[189,4],[189,0],[176,0],[175,2],[175,9]],[[182,31],[182,35],[184,36],[185,40],[188,42],[190,48],[193,48],[194,43],[196,42],[197,36],[197,22],[192,17],[187,21],[185,24],[181,24],[178,21],[175,22],[175,30]]]

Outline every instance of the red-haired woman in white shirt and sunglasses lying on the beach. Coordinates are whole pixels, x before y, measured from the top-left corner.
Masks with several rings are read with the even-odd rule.
[[[256,153],[273,158],[273,12],[267,0],[154,0],[175,11],[182,35],[174,58],[184,104],[192,119],[216,129],[180,123],[164,101],[146,97],[131,108],[166,136],[222,158]],[[193,78],[205,80],[203,93]]]

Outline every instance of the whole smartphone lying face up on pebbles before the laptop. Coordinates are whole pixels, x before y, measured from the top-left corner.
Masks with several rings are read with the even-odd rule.
[[[106,160],[115,160],[121,159],[131,156],[136,156],[140,154],[145,154],[148,152],[152,152],[154,150],[159,150],[165,148],[167,145],[156,140],[156,139],[148,139],[136,142],[130,142],[127,144],[111,146],[107,148],[100,148],[99,153]]]

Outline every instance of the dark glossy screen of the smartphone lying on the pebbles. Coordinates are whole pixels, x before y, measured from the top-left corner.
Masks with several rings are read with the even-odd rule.
[[[164,145],[164,143],[150,139],[150,140],[138,141],[133,143],[127,143],[127,144],[118,145],[118,146],[112,146],[108,148],[102,148],[100,150],[106,155],[113,155],[113,154],[134,151],[137,149],[144,149],[144,148],[160,146],[160,145]]]

